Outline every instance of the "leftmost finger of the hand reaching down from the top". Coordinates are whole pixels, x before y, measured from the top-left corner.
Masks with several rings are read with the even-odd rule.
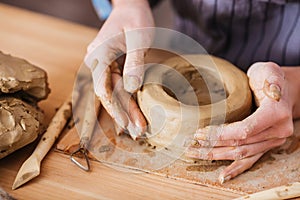
[[[100,65],[100,63],[97,63],[95,70],[92,72],[92,76],[95,93],[103,107],[119,126],[125,128],[128,124],[128,119],[126,113],[122,110],[120,102],[113,99],[111,71],[109,66],[103,66]]]

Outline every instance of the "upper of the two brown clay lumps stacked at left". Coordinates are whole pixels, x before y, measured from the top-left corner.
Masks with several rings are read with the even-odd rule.
[[[0,95],[20,92],[36,100],[49,93],[47,74],[24,59],[0,51]]]

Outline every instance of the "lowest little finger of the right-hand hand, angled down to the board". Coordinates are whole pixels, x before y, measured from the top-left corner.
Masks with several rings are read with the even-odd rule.
[[[242,160],[234,161],[220,173],[219,182],[223,184],[225,181],[228,181],[251,168],[263,154],[264,153],[260,153]]]

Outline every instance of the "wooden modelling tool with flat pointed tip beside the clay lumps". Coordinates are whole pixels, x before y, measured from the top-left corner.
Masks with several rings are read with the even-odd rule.
[[[12,189],[16,189],[40,174],[40,165],[43,158],[51,149],[56,138],[62,132],[68,119],[72,115],[72,95],[62,104],[56,112],[47,131],[42,136],[32,155],[21,166]]]

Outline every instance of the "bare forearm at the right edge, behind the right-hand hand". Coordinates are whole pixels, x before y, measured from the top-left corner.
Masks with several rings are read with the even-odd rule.
[[[300,117],[300,66],[282,67],[288,82],[289,98],[293,106],[293,118]]]

